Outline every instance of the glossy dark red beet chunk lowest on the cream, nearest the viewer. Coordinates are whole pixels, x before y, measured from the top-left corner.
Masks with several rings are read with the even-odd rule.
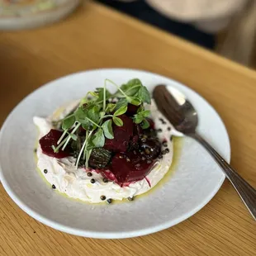
[[[116,154],[112,159],[111,173],[116,177],[117,182],[122,185],[139,181],[147,176],[154,161],[142,160],[138,154],[127,153]]]

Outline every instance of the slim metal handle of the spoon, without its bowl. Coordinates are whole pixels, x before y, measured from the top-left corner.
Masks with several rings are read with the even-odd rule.
[[[249,185],[249,183],[247,183],[244,178],[242,178],[235,171],[235,169],[232,168],[230,164],[228,164],[225,159],[223,159],[208,142],[206,142],[206,140],[201,138],[200,135],[192,134],[190,136],[197,140],[201,145],[203,145],[220,165],[223,172],[225,173],[226,178],[230,180],[230,183],[232,183],[232,185],[235,187],[236,192],[238,192],[239,196],[244,201],[244,204],[247,206],[249,212],[252,216],[254,216],[254,220],[256,220],[256,190],[254,187]]]

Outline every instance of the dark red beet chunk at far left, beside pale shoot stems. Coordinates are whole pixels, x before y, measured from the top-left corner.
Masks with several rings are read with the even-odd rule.
[[[67,146],[64,151],[59,149],[58,153],[54,152],[52,145],[57,146],[57,141],[62,135],[63,131],[51,129],[47,135],[40,138],[39,143],[44,154],[54,157],[55,159],[63,159],[70,155],[70,148]]]

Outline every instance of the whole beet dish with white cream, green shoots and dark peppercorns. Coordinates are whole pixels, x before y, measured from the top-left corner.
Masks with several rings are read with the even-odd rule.
[[[121,86],[106,79],[102,88],[51,116],[35,116],[34,123],[38,168],[53,189],[82,201],[132,201],[172,164],[172,126],[137,78]]]

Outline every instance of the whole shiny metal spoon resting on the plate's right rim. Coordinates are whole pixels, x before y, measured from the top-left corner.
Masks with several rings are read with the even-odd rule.
[[[235,187],[251,215],[254,216],[254,220],[256,220],[256,190],[244,178],[240,177],[235,169],[206,140],[201,138],[201,135],[197,134],[198,116],[192,104],[187,101],[181,92],[173,90],[171,94],[164,85],[154,88],[153,97],[159,111],[163,113],[176,130],[197,140],[211,154],[222,168],[226,178]]]

